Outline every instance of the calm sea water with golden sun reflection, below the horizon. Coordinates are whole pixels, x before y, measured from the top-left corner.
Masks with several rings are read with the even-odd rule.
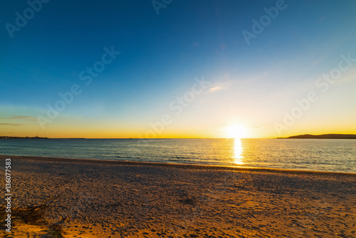
[[[177,162],[356,172],[356,140],[323,139],[0,140],[0,155]]]

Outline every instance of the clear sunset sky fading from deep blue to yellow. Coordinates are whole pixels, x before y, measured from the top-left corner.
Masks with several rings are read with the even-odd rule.
[[[353,0],[2,0],[0,135],[356,134],[355,23]]]

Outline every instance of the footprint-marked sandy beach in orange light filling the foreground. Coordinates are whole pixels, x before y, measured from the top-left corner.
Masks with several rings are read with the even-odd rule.
[[[55,198],[64,237],[356,237],[356,174],[10,157],[14,209]]]

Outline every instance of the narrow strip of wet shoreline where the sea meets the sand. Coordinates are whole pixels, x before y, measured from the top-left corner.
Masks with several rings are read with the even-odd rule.
[[[142,165],[142,166],[159,166],[159,167],[177,167],[193,170],[235,170],[239,172],[276,172],[287,174],[320,174],[320,175],[345,175],[356,177],[356,172],[333,172],[333,171],[319,171],[319,170],[294,170],[281,169],[270,167],[244,167],[244,166],[227,166],[227,165],[199,165],[199,164],[185,164],[177,162],[145,162],[145,161],[130,161],[130,160],[98,160],[98,159],[82,159],[82,158],[67,158],[67,157],[41,157],[41,156],[23,156],[23,155],[0,155],[0,159],[24,159],[24,160],[44,160],[44,161],[58,161],[58,162],[92,162],[113,165]]]

